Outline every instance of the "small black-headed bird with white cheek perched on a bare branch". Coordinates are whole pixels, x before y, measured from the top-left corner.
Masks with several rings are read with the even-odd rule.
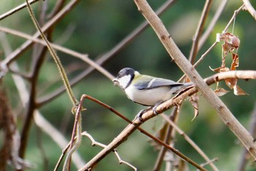
[[[182,89],[193,85],[192,83],[176,83],[173,80],[160,77],[140,75],[132,68],[121,69],[117,77],[113,79],[113,83],[120,86],[132,102],[153,107],[156,115],[156,108],[159,104],[178,94]],[[141,110],[136,117],[141,120],[141,115],[146,110]]]

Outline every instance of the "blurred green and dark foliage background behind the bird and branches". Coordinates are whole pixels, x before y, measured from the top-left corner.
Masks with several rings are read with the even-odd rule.
[[[206,20],[206,27],[213,18],[219,1],[213,1],[211,10]],[[0,13],[9,11],[18,6],[23,1],[1,0],[4,5],[0,6]],[[56,1],[38,1],[32,5],[35,15],[39,16],[42,4],[47,4],[46,13],[52,11]],[[162,4],[163,0],[148,1],[151,7],[156,10]],[[184,56],[189,56],[189,51],[192,47],[192,38],[197,28],[197,23],[200,19],[205,1],[176,1],[173,6],[169,7],[162,15],[161,19],[171,37],[184,53]],[[215,42],[216,34],[222,33],[228,21],[233,15],[234,10],[241,7],[242,2],[228,1],[222,15],[220,16],[214,30],[206,40],[206,43],[199,50],[197,59],[208,50],[208,48]],[[252,4],[256,7],[256,3]],[[79,53],[88,53],[89,58],[96,61],[101,56],[108,53],[113,47],[118,45],[122,39],[127,37],[135,30],[145,19],[143,15],[138,12],[134,1],[80,1],[72,12],[63,19],[54,28],[52,34],[52,42],[58,45],[67,47],[69,49],[78,51]],[[44,23],[45,21],[42,21]],[[31,21],[29,13],[26,9],[1,20],[1,26],[22,31],[26,34],[33,35],[36,29]],[[239,12],[236,17],[234,28],[230,26],[229,30],[236,34],[241,40],[241,45],[238,48],[238,55],[240,57],[240,64],[237,69],[255,70],[255,37],[256,37],[256,22],[252,15],[247,11]],[[9,42],[11,50],[20,47],[26,40],[11,34],[2,34]],[[0,46],[3,49],[3,44]],[[1,50],[0,49],[0,50]],[[23,73],[29,73],[31,70],[31,56],[34,52],[27,50],[18,58],[17,63]],[[67,55],[66,53],[58,52],[64,68],[67,71],[70,80],[76,77],[83,71],[89,68],[85,62],[81,62],[78,58]],[[5,58],[3,52],[0,53],[0,60]],[[220,42],[211,53],[197,66],[197,72],[202,77],[209,77],[214,75],[214,72],[209,69],[221,66],[222,62],[222,42]],[[230,66],[232,59],[227,56],[227,66]],[[131,42],[124,48],[118,51],[113,57],[106,61],[103,66],[111,74],[116,76],[117,72],[124,67],[132,67],[142,74],[154,75],[156,77],[165,77],[171,80],[178,80],[183,72],[176,66],[175,62],[168,56],[165,48],[159,42],[156,34],[152,28],[148,27],[145,31],[132,39]],[[29,83],[26,81],[27,86]],[[62,85],[59,72],[53,58],[50,54],[46,54],[42,69],[40,69],[37,82],[37,99],[47,96],[56,91]],[[255,80],[239,80],[238,85],[246,91],[246,96],[236,96],[230,90],[225,96],[221,96],[223,102],[227,105],[233,115],[238,118],[246,129],[249,129],[252,114],[255,108]],[[3,86],[7,92],[8,101],[12,106],[12,111],[17,115],[17,126],[20,130],[23,126],[24,115],[26,110],[23,109],[18,96],[17,88],[15,87],[11,74],[8,73],[3,79]],[[219,86],[229,90],[225,83],[219,83]],[[211,86],[213,89],[216,85]],[[90,75],[84,77],[74,87],[73,91],[77,99],[80,99],[82,94],[89,94],[94,98],[99,99],[105,104],[114,107],[120,113],[127,116],[129,119],[135,118],[135,115],[145,107],[134,104],[121,91],[121,88],[113,86],[111,80],[101,73],[91,72]],[[200,96],[200,94],[199,94]],[[72,125],[74,121],[73,115],[70,113],[72,104],[66,93],[61,94],[52,101],[44,104],[39,108],[39,112],[65,135],[67,140],[72,134]],[[121,118],[118,118],[105,108],[85,100],[84,107],[86,111],[83,112],[83,131],[89,132],[95,140],[108,145],[114,137],[116,137],[126,126],[127,123]],[[166,114],[170,114],[172,110],[167,110]],[[254,112],[255,113],[255,112]],[[178,126],[195,141],[200,148],[208,155],[210,159],[219,158],[215,163],[219,170],[238,170],[238,165],[241,161],[241,154],[243,147],[237,140],[236,136],[225,126],[222,120],[217,115],[216,111],[200,96],[199,101],[199,115],[191,121],[194,115],[192,104],[188,101],[184,102],[179,114]],[[152,134],[157,134],[162,127],[164,121],[162,117],[158,116],[151,121],[143,124],[143,129],[146,129]],[[39,133],[40,132],[40,133]],[[157,159],[157,151],[148,142],[148,137],[135,132],[129,139],[120,145],[118,153],[124,161],[135,165],[138,170],[152,170]],[[1,139],[0,139],[1,141]],[[41,142],[39,142],[41,141]],[[39,148],[39,144],[41,147]],[[190,157],[197,163],[204,163],[203,158],[192,148],[189,143],[180,135],[176,135],[175,148],[186,156]],[[44,150],[46,159],[42,160],[42,152]],[[79,148],[80,156],[84,161],[89,161],[102,148],[91,147],[91,142],[88,138],[83,138],[82,145]],[[26,150],[26,160],[35,165],[31,170],[53,170],[56,161],[61,155],[61,148],[56,145],[56,142],[40,131],[40,129],[33,124],[29,135],[29,145]],[[252,161],[246,170],[255,170],[255,165]],[[190,170],[195,170],[188,164]],[[165,167],[162,167],[162,170]],[[210,167],[206,167],[211,170]],[[8,169],[13,170],[12,167]],[[72,170],[76,170],[72,165]],[[118,164],[118,160],[114,154],[110,154],[103,159],[95,170],[131,170],[124,164]]]

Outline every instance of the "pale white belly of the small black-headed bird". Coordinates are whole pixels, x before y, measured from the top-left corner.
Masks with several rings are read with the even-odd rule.
[[[133,102],[147,106],[154,106],[157,102],[165,101],[173,96],[168,87],[138,90],[133,86],[129,86],[125,89],[125,93]]]

